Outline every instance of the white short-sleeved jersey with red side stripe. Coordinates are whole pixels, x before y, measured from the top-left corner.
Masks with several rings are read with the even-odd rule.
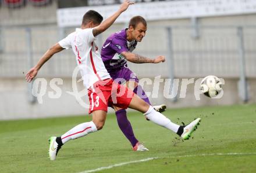
[[[97,38],[93,35],[93,28],[76,28],[75,32],[59,41],[65,49],[72,48],[76,55],[77,65],[83,78],[84,86],[88,89],[98,80],[111,78],[95,44]]]

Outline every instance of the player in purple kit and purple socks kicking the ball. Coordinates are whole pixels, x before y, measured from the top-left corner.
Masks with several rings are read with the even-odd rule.
[[[147,31],[147,22],[141,16],[135,16],[131,18],[129,28],[116,32],[109,36],[102,49],[101,58],[104,62],[106,69],[108,70],[111,78],[126,82],[127,87],[134,91],[145,102],[150,104],[150,100],[143,91],[142,87],[138,85],[138,78],[128,67],[127,61],[137,64],[141,63],[159,63],[164,62],[164,56],[158,56],[156,58],[148,58],[140,56],[135,53],[131,53],[137,45],[137,42],[141,42]],[[127,60],[127,61],[126,61]],[[150,104],[151,105],[151,104]],[[163,112],[166,109],[165,105],[153,106],[158,112]],[[116,119],[118,120],[118,126],[129,139],[133,150],[146,151],[148,150],[142,145],[133,133],[133,128],[126,116],[126,109],[121,109],[113,106],[116,112]]]

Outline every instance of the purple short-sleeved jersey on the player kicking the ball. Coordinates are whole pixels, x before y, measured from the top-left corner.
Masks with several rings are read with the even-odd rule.
[[[101,58],[110,75],[120,70],[122,67],[127,67],[126,59],[121,53],[124,51],[133,51],[137,45],[137,41],[127,41],[126,30],[127,29],[112,34],[106,39],[102,46]]]

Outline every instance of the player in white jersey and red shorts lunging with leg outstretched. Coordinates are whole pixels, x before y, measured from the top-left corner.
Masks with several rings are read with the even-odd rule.
[[[65,39],[48,49],[35,67],[27,72],[26,80],[31,82],[42,65],[55,53],[66,48],[72,48],[76,55],[81,76],[83,76],[84,86],[88,89],[90,100],[89,113],[93,114],[93,120],[73,127],[60,137],[51,137],[49,139],[49,158],[51,160],[56,159],[59,149],[67,141],[101,130],[106,120],[108,104],[113,104],[123,109],[129,107],[140,111],[144,113],[147,119],[170,131],[176,132],[183,139],[188,139],[200,122],[200,118],[198,118],[187,126],[179,126],[172,123],[167,117],[155,111],[152,106],[134,94],[132,90],[113,82],[109,73],[106,71],[94,42],[95,37],[109,28],[118,16],[131,4],[133,2],[124,1],[119,10],[102,23],[103,18],[99,13],[94,10],[88,11],[84,14],[81,28],[77,28],[75,32],[69,34]]]

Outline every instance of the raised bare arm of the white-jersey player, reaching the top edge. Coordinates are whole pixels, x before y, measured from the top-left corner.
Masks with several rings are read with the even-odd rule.
[[[111,17],[108,19],[104,20],[98,27],[95,27],[93,29],[93,35],[97,36],[104,32],[106,29],[108,29],[116,19],[118,19],[118,16],[120,16],[121,13],[125,12],[125,10],[129,7],[129,5],[134,4],[134,2],[130,1],[124,1],[122,5],[120,6],[119,10],[114,13]]]

